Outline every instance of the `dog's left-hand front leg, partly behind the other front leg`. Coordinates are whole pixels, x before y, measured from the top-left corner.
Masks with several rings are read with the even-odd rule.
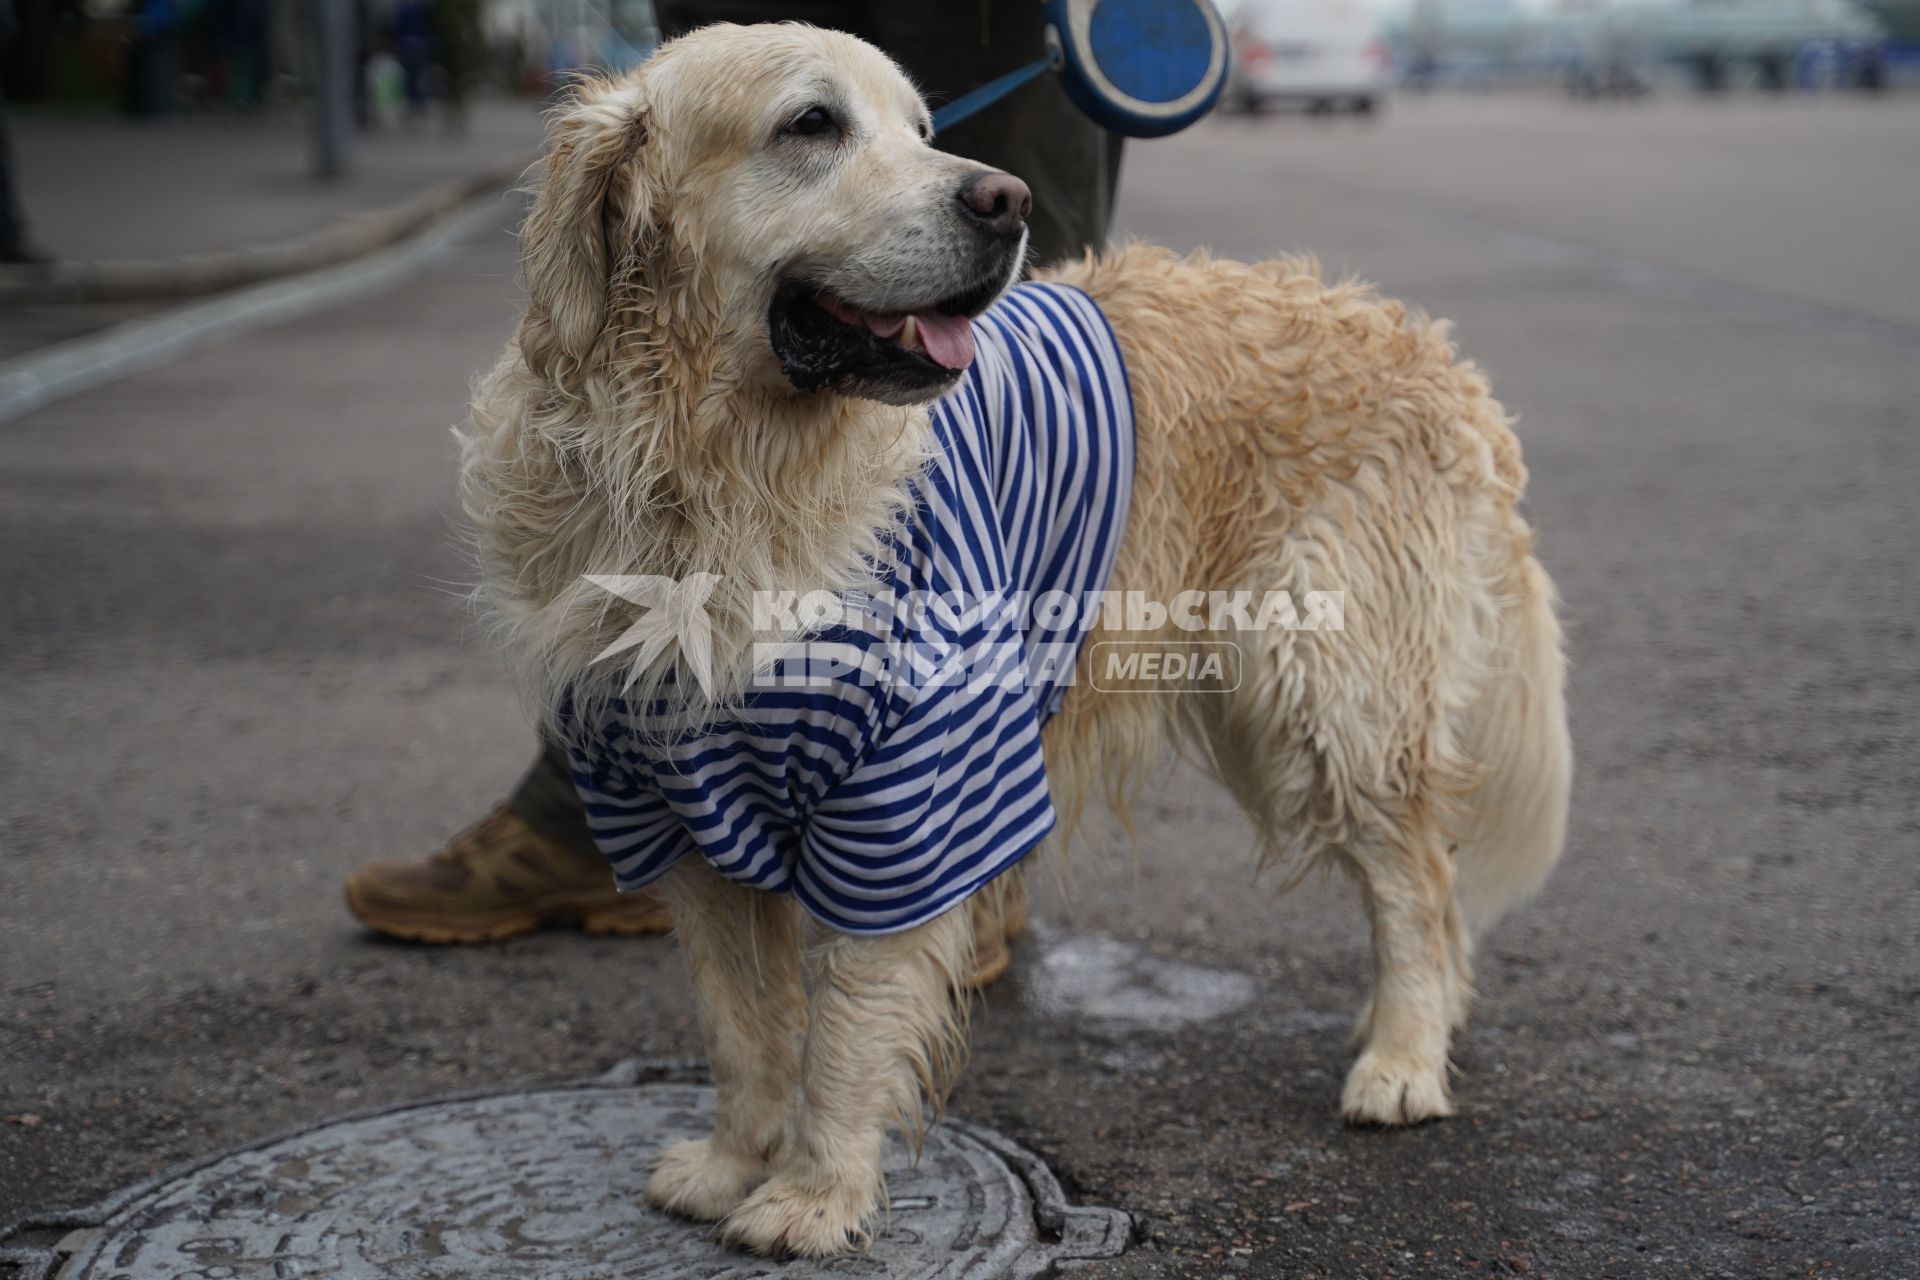
[[[799,913],[789,896],[733,885],[703,858],[682,858],[660,890],[693,971],[718,1113],[712,1138],[660,1153],[647,1203],[712,1222],[768,1178],[789,1144],[806,1011]]]

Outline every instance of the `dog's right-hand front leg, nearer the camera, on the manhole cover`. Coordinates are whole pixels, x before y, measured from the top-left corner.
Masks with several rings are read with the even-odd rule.
[[[810,954],[795,1144],[720,1226],[768,1257],[829,1257],[868,1240],[885,1196],[887,1125],[918,1136],[966,1052],[968,912],[887,936],[829,935]]]

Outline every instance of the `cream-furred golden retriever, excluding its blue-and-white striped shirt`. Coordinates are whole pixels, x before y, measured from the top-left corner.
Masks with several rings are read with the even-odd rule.
[[[484,603],[557,731],[622,693],[726,714],[760,662],[756,593],[872,578],[956,334],[1021,271],[1025,188],[929,138],[883,54],[803,25],[701,29],[557,113],[528,309],[463,436]],[[1077,679],[1043,737],[1062,833],[1167,752],[1198,760],[1263,862],[1338,867],[1365,902],[1342,1113],[1444,1117],[1473,938],[1551,869],[1571,777],[1507,416],[1444,324],[1311,263],[1129,246],[1041,278],[1096,303],[1131,384],[1110,589],[1344,593],[1340,629],[1236,631],[1231,689]],[[593,576],[695,574],[699,670],[670,645],[597,662],[645,610]],[[1079,660],[1114,637],[1102,616]],[[860,1245],[889,1125],[918,1134],[964,1052],[970,912],[835,931],[699,856],[660,885],[718,1117],[647,1199],[766,1255]]]

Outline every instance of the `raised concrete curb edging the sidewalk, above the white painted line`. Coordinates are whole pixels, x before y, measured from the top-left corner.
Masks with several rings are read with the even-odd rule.
[[[520,180],[524,165],[442,182],[397,203],[349,213],[292,240],[182,257],[0,267],[0,305],[196,297],[307,274],[376,253],[478,196]]]

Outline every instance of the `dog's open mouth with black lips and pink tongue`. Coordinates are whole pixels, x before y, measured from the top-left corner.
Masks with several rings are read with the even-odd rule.
[[[927,399],[973,363],[973,317],[1002,280],[927,305],[858,307],[804,280],[774,292],[766,330],[787,380],[891,403]]]

